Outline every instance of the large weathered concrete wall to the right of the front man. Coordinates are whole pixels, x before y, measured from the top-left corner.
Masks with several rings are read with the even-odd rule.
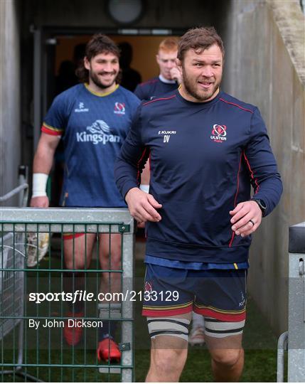
[[[259,107],[284,183],[254,237],[249,276],[279,333],[287,330],[288,228],[305,220],[304,16],[298,1],[247,0],[231,2],[227,21],[225,88]]]

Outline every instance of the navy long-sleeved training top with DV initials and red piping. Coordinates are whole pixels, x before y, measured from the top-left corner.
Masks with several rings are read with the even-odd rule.
[[[268,215],[282,181],[257,107],[219,92],[209,102],[185,100],[178,90],[137,110],[114,166],[122,196],[139,186],[151,156],[149,193],[162,204],[148,222],[146,255],[186,262],[246,262],[251,236],[231,230],[229,211],[261,198]]]

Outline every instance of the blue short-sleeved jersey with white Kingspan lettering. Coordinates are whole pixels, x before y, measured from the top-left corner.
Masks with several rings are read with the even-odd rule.
[[[55,97],[41,130],[63,135],[62,205],[126,207],[114,183],[113,167],[139,103],[119,85],[114,92],[101,94],[78,84]]]

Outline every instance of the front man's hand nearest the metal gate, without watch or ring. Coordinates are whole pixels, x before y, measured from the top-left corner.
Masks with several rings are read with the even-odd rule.
[[[131,215],[138,223],[161,220],[161,215],[156,209],[162,208],[162,205],[150,193],[143,192],[139,188],[132,188],[126,193],[125,201]]]

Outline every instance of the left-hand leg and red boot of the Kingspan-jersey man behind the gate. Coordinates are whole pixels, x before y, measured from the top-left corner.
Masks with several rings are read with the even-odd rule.
[[[90,265],[92,248],[96,240],[95,234],[75,234],[63,235],[63,248],[66,270],[63,274],[63,284],[65,292],[70,292],[73,295],[78,291],[85,289],[85,272]],[[74,304],[68,302],[69,311],[65,316],[82,317],[84,313],[84,302],[76,300]],[[64,332],[65,341],[69,345],[76,345],[82,338],[82,328],[68,327],[65,324]]]

